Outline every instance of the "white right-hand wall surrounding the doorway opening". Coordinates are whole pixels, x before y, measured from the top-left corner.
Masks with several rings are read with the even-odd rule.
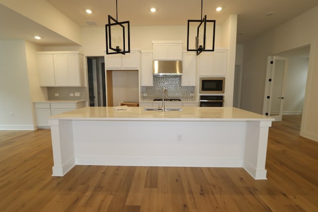
[[[311,45],[301,136],[318,141],[318,6],[244,45],[241,107],[261,114],[267,57]]]

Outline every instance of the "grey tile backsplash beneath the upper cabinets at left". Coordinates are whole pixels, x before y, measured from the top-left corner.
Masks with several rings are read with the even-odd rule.
[[[79,96],[77,96],[77,94],[79,94]],[[49,100],[87,99],[86,87],[48,87],[48,99]]]

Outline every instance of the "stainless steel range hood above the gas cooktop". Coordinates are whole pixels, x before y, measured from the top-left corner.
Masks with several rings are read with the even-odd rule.
[[[182,75],[182,61],[154,61],[154,75]]]

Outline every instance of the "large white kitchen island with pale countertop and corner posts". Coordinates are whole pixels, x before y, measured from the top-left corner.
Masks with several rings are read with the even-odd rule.
[[[53,176],[75,165],[243,167],[266,179],[272,118],[233,107],[85,107],[49,117]]]

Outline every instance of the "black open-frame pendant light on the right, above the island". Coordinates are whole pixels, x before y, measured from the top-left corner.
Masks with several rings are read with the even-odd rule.
[[[201,20],[188,20],[187,51],[196,52],[197,55],[203,51],[214,51],[215,20],[207,20],[206,15],[202,18],[202,8],[203,0],[201,0]],[[206,45],[207,34],[209,40],[212,39],[211,49]]]

